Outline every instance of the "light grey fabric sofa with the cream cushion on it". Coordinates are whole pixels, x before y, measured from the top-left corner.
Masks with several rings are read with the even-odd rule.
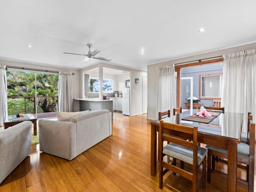
[[[93,111],[70,121],[40,119],[40,151],[71,160],[112,134],[111,112]]]

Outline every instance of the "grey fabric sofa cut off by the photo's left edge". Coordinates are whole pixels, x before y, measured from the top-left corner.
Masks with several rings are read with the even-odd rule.
[[[30,154],[32,122],[0,131],[0,183]]]

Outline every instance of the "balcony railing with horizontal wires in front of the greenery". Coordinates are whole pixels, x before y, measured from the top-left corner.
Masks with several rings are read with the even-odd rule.
[[[37,113],[37,118],[44,118],[56,116],[59,110],[58,96],[7,97],[7,103],[8,115]]]

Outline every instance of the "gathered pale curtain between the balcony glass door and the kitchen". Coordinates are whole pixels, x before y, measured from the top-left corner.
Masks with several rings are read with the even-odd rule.
[[[73,112],[73,79],[70,72],[59,72],[59,111]]]

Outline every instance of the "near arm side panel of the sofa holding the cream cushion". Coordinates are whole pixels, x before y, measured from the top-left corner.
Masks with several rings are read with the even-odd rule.
[[[40,119],[39,149],[71,160],[76,157],[76,124],[70,121]]]

